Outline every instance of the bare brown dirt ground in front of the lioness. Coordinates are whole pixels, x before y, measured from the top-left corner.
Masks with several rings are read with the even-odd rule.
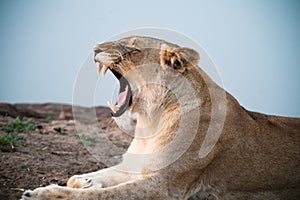
[[[0,104],[0,136],[7,134],[3,127],[18,116],[22,120],[30,118],[35,126],[34,130],[13,133],[22,139],[16,141],[13,148],[10,146],[7,151],[0,151],[0,199],[20,199],[24,190],[49,184],[66,185],[72,175],[96,171],[120,162],[131,137],[116,127],[107,108],[99,107],[96,113],[102,127],[97,132],[100,139],[78,133],[71,106]],[[89,129],[89,120],[83,121],[82,128]],[[101,144],[105,138],[119,147],[118,150]],[[104,157],[95,156],[87,146],[96,146],[97,151],[103,150]],[[108,163],[107,160],[113,160],[114,163]]]

